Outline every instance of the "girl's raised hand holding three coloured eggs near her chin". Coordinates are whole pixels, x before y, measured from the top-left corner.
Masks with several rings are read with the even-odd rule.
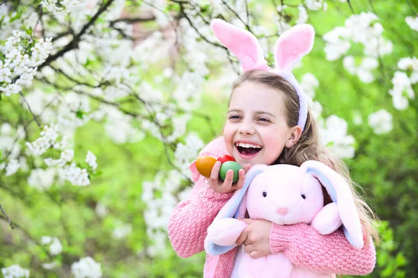
[[[222,179],[219,178],[219,170],[221,169],[221,165],[221,161],[217,161],[212,167],[210,178],[206,178],[210,188],[215,190],[217,193],[231,193],[237,189],[242,188],[242,186],[244,186],[245,173],[248,172],[251,165],[247,164],[245,169],[240,169],[238,172],[238,181],[236,183],[232,183],[233,170],[228,170],[228,172],[226,172],[225,181],[222,181]]]

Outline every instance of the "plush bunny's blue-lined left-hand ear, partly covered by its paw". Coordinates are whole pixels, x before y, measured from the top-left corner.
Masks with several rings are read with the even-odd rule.
[[[247,211],[247,204],[246,204],[246,197],[247,197],[247,189],[249,188],[249,184],[251,181],[256,177],[257,174],[263,172],[263,170],[267,167],[265,164],[254,165],[251,169],[245,174],[245,182],[242,188],[235,190],[235,193],[229,199],[228,202],[221,208],[219,213],[216,215],[215,220],[222,219],[222,218],[244,218],[245,211]],[[214,220],[214,221],[215,221]],[[206,238],[207,239],[207,238]],[[221,246],[215,243],[212,243],[210,240],[205,240],[205,250],[208,254],[212,256],[217,256],[220,254],[224,254],[229,250],[233,249],[236,245],[230,246]]]

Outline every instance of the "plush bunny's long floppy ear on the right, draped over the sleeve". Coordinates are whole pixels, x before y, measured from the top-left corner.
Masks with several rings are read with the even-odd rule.
[[[344,234],[348,241],[357,249],[364,245],[362,224],[355,207],[353,194],[341,175],[319,161],[306,161],[301,166],[307,173],[318,179],[330,195],[332,202],[336,203]]]

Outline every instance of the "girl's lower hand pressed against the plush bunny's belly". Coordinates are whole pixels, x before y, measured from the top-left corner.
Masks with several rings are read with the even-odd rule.
[[[270,229],[272,222],[268,220],[254,220],[249,218],[238,218],[248,224],[238,237],[236,244],[243,244],[244,251],[252,259],[260,258],[271,254],[270,251]]]

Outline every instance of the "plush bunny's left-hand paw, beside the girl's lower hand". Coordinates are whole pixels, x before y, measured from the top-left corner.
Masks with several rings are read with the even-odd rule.
[[[217,219],[208,228],[208,240],[217,245],[235,245],[247,223],[235,218]]]

